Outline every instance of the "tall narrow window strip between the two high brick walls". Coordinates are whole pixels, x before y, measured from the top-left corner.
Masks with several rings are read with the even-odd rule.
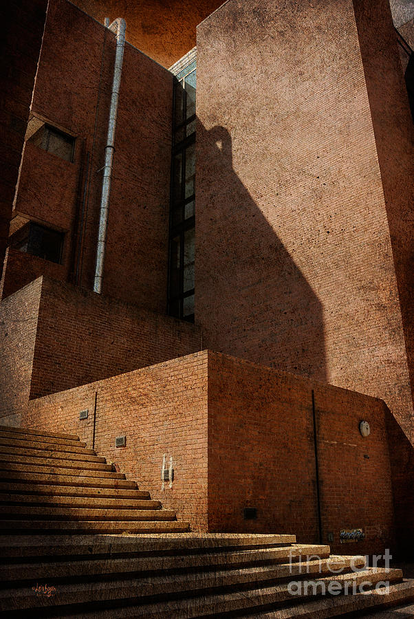
[[[174,80],[168,314],[194,322],[196,60],[190,54]]]

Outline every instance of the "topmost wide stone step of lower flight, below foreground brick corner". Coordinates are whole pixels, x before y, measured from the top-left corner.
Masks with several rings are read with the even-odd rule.
[[[41,536],[27,535],[24,538],[18,534],[3,534],[0,536],[0,561],[19,557],[50,557],[65,556],[114,556],[120,554],[175,553],[186,552],[201,554],[202,552],[226,554],[228,550],[249,549],[274,551],[276,560],[297,553],[295,551],[296,537],[294,535],[259,534],[259,533],[175,533],[140,535],[89,535],[73,536],[70,534],[53,534]],[[300,545],[306,549],[306,554],[312,554],[314,545]],[[320,556],[329,555],[329,546],[316,546]]]

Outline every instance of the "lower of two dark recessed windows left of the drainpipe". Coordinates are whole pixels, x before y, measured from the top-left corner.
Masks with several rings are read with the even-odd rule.
[[[63,232],[30,221],[13,235],[11,246],[32,256],[61,264],[64,237]]]

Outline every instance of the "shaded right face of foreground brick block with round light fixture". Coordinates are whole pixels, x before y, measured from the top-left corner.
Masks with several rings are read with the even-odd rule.
[[[393,545],[384,403],[211,352],[209,528],[319,541],[312,389],[321,541],[341,554],[383,552]],[[360,435],[362,419],[371,425],[367,438]],[[257,508],[257,520],[244,520],[243,508]],[[340,544],[340,530],[353,528],[363,528],[366,540]]]

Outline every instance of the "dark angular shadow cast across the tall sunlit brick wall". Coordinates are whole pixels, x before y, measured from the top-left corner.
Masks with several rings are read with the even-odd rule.
[[[197,169],[195,320],[204,347],[326,381],[323,306],[235,173],[227,129],[198,121]]]

